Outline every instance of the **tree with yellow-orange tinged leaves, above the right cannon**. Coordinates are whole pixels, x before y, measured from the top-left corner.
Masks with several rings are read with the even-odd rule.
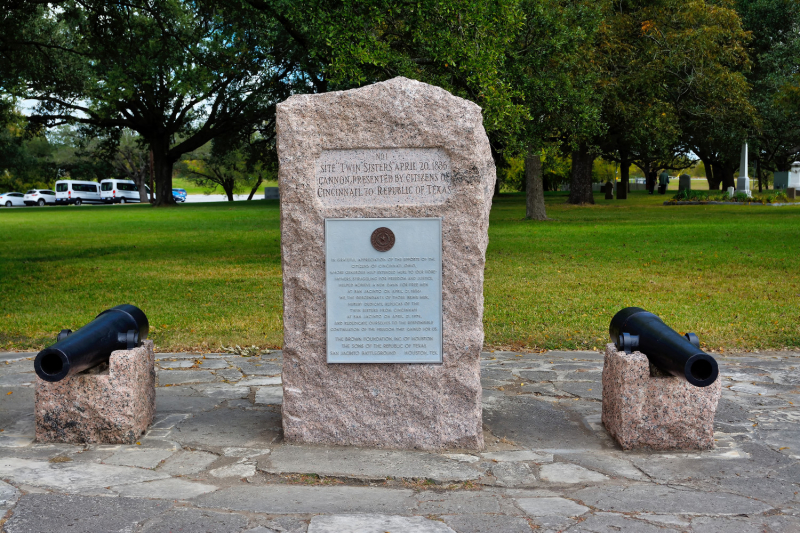
[[[747,36],[730,2],[614,2],[600,35],[608,131],[597,144],[620,163],[618,197],[631,163],[652,185],[659,170],[688,167],[689,150],[709,168],[730,142],[741,145],[753,113],[742,74]]]

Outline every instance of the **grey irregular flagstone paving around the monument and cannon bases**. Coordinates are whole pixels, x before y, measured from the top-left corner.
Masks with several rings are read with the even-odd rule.
[[[718,356],[716,447],[623,452],[602,355],[484,353],[486,450],[293,446],[281,354],[159,354],[137,445],[37,444],[35,354],[0,354],[0,528],[126,532],[798,532],[800,353]]]

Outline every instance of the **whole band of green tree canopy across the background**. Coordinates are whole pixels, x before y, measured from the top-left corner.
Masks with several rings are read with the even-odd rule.
[[[133,135],[160,205],[185,154],[251,161],[259,139],[274,162],[291,94],[400,75],[478,103],[501,167],[571,155],[575,203],[598,155],[623,180],[699,157],[717,188],[745,140],[759,172],[800,153],[794,0],[19,0],[0,17],[0,167],[21,176],[20,147],[57,126],[117,150]]]

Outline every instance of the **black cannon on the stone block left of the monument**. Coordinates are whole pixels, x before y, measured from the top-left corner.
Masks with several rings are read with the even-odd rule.
[[[142,344],[150,332],[147,316],[129,304],[106,309],[76,332],[58,334],[57,342],[36,356],[33,367],[45,381],[61,381],[108,361],[114,350]]]

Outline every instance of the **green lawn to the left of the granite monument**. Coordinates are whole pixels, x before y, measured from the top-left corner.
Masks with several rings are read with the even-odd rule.
[[[39,348],[109,306],[161,350],[281,344],[278,202],[0,210],[0,349]]]

